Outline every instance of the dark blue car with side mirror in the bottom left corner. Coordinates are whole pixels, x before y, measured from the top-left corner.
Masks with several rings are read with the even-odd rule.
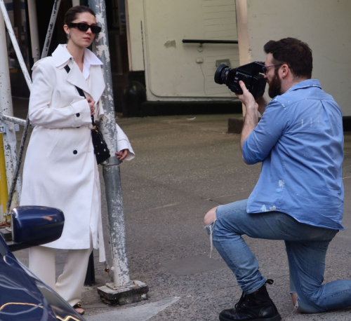
[[[50,207],[16,207],[11,212],[13,241],[0,236],[0,320],[81,321],[74,308],[41,282],[11,251],[60,238],[65,217]]]

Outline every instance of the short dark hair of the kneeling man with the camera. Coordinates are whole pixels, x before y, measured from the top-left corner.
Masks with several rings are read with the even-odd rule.
[[[295,38],[270,40],[264,46],[265,53],[272,53],[273,64],[287,64],[298,78],[312,77],[312,50],[303,41]]]

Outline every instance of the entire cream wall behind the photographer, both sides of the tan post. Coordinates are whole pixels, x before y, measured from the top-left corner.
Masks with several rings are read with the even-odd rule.
[[[236,6],[235,0],[126,0],[126,4],[130,69],[145,70],[148,100],[232,100],[226,86],[213,82],[216,60],[227,57],[232,67],[265,60],[267,41],[292,36],[310,45],[313,78],[333,95],[343,114],[351,116],[347,97],[351,0],[237,0]],[[208,24],[211,21],[213,25]],[[194,38],[238,39],[239,48],[204,45],[199,53],[198,45],[181,42]],[[204,62],[198,64],[197,58]]]

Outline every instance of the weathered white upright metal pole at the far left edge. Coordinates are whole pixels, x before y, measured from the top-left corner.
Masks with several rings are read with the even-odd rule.
[[[0,0],[1,11],[3,11],[4,1]],[[5,12],[7,15],[6,8]],[[3,11],[4,13],[4,11]],[[8,15],[7,15],[8,18]],[[11,27],[12,28],[12,27]],[[10,34],[10,32],[9,32]],[[14,36],[14,34],[13,34]],[[13,116],[12,107],[12,96],[11,96],[11,83],[10,83],[10,71],[8,68],[8,53],[6,46],[6,31],[3,15],[0,15],[0,100],[1,100],[1,113]],[[8,189],[10,189],[11,182],[13,180],[13,172],[15,170],[15,164],[17,163],[16,154],[16,135],[15,125],[8,121],[1,121],[1,125],[4,128],[4,151],[6,159],[6,177]],[[20,180],[17,180],[18,194],[13,199],[13,205],[18,205],[18,199],[20,198]],[[7,218],[7,215],[6,215]],[[5,218],[5,219],[6,219]],[[2,221],[2,219],[1,219]]]

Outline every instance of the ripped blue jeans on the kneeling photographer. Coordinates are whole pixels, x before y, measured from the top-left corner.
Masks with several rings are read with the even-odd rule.
[[[302,224],[282,212],[246,213],[247,200],[220,205],[217,219],[206,226],[213,245],[237,277],[246,294],[259,289],[265,278],[241,235],[284,240],[289,260],[290,292],[298,295],[301,313],[318,313],[351,306],[351,280],[322,285],[326,250],[338,230]]]

